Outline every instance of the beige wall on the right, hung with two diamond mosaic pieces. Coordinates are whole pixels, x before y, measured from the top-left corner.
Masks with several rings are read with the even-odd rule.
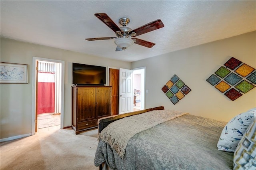
[[[256,32],[135,61],[132,68],[146,67],[146,108],[163,105],[165,109],[229,121],[256,107],[256,87],[231,101],[206,81],[231,56],[256,68]],[[174,74],[192,89],[176,105],[161,90]]]

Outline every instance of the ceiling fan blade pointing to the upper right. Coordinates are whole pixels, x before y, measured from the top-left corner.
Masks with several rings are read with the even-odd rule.
[[[144,26],[141,26],[139,28],[136,28],[135,30],[132,30],[130,31],[130,35],[132,34],[132,32],[135,32],[136,33],[136,36],[140,36],[142,34],[145,34],[147,32],[150,32],[150,31],[154,31],[154,30],[157,30],[159,28],[162,28],[164,27],[164,24],[162,23],[162,21],[160,19],[158,20],[155,20],[155,21],[152,21]]]

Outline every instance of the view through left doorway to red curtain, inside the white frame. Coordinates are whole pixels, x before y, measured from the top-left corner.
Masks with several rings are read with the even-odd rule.
[[[37,62],[36,114],[38,132],[60,128],[61,63]]]

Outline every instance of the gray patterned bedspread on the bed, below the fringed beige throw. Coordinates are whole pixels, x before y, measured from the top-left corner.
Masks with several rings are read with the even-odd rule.
[[[94,164],[114,170],[226,170],[233,153],[216,147],[226,122],[183,115],[134,135],[122,160],[99,140]]]

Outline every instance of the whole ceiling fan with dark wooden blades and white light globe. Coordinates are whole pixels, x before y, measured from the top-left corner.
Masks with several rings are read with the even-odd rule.
[[[94,14],[97,18],[99,18],[104,24],[106,24],[111,30],[116,33],[116,37],[102,37],[102,38],[86,38],[85,40],[88,41],[95,41],[95,40],[111,40],[115,39],[115,44],[117,45],[116,51],[122,51],[126,48],[130,47],[133,43],[138,45],[142,45],[144,47],[151,48],[155,43],[148,42],[145,40],[141,40],[138,38],[134,38],[136,36],[140,36],[150,31],[157,30],[159,28],[164,27],[164,24],[160,19],[152,21],[144,26],[136,28],[132,30],[131,28],[127,27],[130,22],[129,18],[120,18],[119,24],[122,27],[118,27],[113,20],[106,14],[106,13],[96,13]]]

